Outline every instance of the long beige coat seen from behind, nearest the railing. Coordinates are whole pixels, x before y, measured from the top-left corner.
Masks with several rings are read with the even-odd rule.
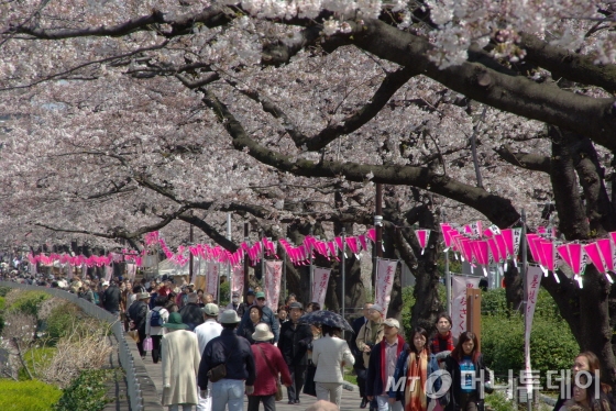
[[[197,373],[201,354],[197,335],[177,330],[163,335],[163,406],[197,404]]]

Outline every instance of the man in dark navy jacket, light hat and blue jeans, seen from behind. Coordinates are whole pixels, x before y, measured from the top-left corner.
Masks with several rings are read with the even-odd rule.
[[[240,323],[238,313],[233,310],[224,311],[220,315],[220,323],[222,324],[220,336],[206,345],[201,356],[198,375],[199,388],[201,397],[206,397],[202,391],[208,388],[208,373],[212,368],[223,365],[227,370],[226,376],[211,382],[212,411],[224,411],[228,406],[229,411],[242,411],[244,380],[245,392],[248,395],[254,392],[256,378],[254,357],[249,341],[235,335],[235,329]]]

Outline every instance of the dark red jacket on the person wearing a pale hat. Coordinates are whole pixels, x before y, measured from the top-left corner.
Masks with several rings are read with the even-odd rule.
[[[254,364],[256,368],[256,380],[254,381],[253,396],[272,396],[276,393],[276,380],[278,373],[283,377],[283,385],[290,386],[290,374],[287,364],[283,359],[283,355],[278,347],[270,343],[256,343],[251,346]],[[263,349],[263,354],[261,351]],[[267,363],[265,358],[267,358]],[[270,365],[268,365],[270,364]],[[272,373],[276,371],[276,375]]]

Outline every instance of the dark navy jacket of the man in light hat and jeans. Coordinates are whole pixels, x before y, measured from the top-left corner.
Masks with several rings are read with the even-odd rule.
[[[246,386],[254,386],[256,368],[252,349],[246,338],[237,336],[233,330],[223,329],[220,336],[210,340],[199,364],[197,380],[199,388],[208,388],[208,371],[226,363],[226,379],[245,379]]]

